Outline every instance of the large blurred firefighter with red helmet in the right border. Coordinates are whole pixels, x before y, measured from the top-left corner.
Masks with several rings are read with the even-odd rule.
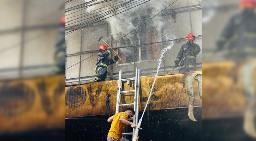
[[[239,6],[243,9],[242,13],[234,15],[229,20],[217,42],[220,51],[225,43],[230,41],[227,45],[229,53],[226,58],[234,61],[256,55],[256,2],[241,0]]]

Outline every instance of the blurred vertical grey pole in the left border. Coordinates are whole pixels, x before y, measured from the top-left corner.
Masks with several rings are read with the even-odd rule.
[[[23,68],[26,3],[27,1],[23,0],[22,28],[21,28],[22,30],[21,30],[20,57],[19,57],[19,77],[20,78],[22,78],[22,68]]]

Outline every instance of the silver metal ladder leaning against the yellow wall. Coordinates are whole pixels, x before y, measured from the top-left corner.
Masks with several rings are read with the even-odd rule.
[[[118,89],[117,89],[117,104],[115,108],[115,114],[119,112],[120,107],[124,106],[132,106],[134,105],[134,111],[135,115],[131,120],[133,120],[133,123],[137,126],[138,124],[138,117],[139,117],[139,76],[140,74],[140,69],[136,68],[135,72],[135,78],[126,78],[126,79],[121,79],[122,76],[122,70],[119,71],[119,78],[118,78]],[[122,90],[122,83],[127,82],[127,84],[130,84],[130,81],[134,81],[134,90],[130,91],[121,91]],[[120,94],[126,94],[126,93],[134,93],[134,103],[129,103],[129,104],[120,104]],[[131,133],[123,133],[123,136],[125,135],[134,135],[135,129]]]

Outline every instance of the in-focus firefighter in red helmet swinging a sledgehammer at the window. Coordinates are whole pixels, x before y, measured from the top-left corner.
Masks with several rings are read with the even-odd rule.
[[[99,51],[95,68],[97,76],[93,79],[93,82],[105,81],[108,72],[107,66],[118,61],[118,55],[115,55],[112,59],[108,58],[113,49],[106,45],[100,45]]]

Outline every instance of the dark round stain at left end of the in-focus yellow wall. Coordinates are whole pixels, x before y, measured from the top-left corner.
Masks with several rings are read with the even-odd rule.
[[[66,92],[66,106],[69,108],[79,108],[87,98],[87,93],[82,87],[70,87]]]

